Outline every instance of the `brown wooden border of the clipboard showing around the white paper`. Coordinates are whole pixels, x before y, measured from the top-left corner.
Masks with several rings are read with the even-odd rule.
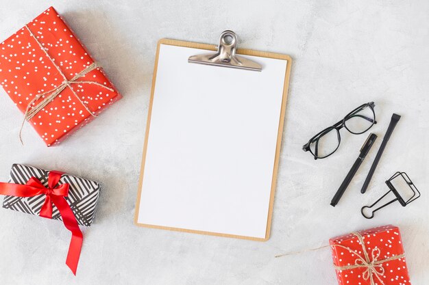
[[[155,64],[154,64],[154,75],[152,77],[151,97],[149,100],[149,110],[147,113],[145,141],[144,141],[144,145],[143,145],[143,155],[142,155],[142,162],[141,162],[141,167],[140,167],[140,178],[138,179],[138,192],[137,192],[137,198],[136,198],[136,208],[135,208],[135,212],[134,212],[134,224],[136,226],[145,227],[145,228],[173,230],[176,232],[207,234],[207,235],[212,235],[212,236],[223,236],[223,237],[230,237],[230,238],[235,238],[235,239],[247,239],[247,240],[251,240],[251,241],[268,241],[269,236],[270,236],[270,232],[271,232],[271,220],[273,217],[275,187],[276,187],[277,176],[278,176],[278,165],[280,162],[280,150],[282,148],[284,116],[286,113],[286,100],[287,100],[287,95],[288,95],[288,90],[289,90],[289,79],[291,77],[292,58],[289,55],[284,55],[281,53],[254,51],[251,49],[237,49],[237,53],[241,54],[241,55],[253,55],[253,56],[258,56],[258,57],[268,57],[268,58],[273,58],[273,59],[286,60],[286,72],[285,72],[284,85],[283,85],[282,107],[280,109],[280,122],[279,122],[279,127],[278,127],[277,144],[275,146],[273,178],[271,179],[271,193],[270,193],[270,199],[269,199],[269,210],[268,210],[267,229],[265,231],[265,238],[258,238],[255,236],[239,236],[239,235],[235,235],[235,234],[223,234],[223,233],[219,233],[219,232],[205,232],[205,231],[201,231],[201,230],[188,230],[188,229],[184,229],[184,228],[173,228],[173,227],[167,227],[167,226],[150,225],[147,223],[138,223],[138,212],[140,210],[140,199],[141,199],[141,191],[142,191],[142,184],[143,184],[143,174],[145,172],[147,142],[149,140],[149,128],[150,128],[150,121],[151,121],[152,104],[154,102],[156,74],[158,72],[158,59],[159,59],[161,44],[168,44],[168,45],[172,45],[172,46],[183,46],[183,47],[189,47],[189,48],[193,48],[193,49],[206,49],[208,51],[217,51],[217,46],[215,46],[214,44],[201,44],[201,43],[197,43],[197,42],[186,42],[186,41],[182,41],[182,40],[171,40],[171,39],[167,39],[167,38],[163,38],[163,39],[160,39],[158,41],[158,45],[156,48]]]

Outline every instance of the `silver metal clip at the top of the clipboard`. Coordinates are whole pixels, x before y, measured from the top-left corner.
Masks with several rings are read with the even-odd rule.
[[[188,62],[193,64],[206,64],[209,66],[223,66],[246,70],[261,71],[262,66],[250,59],[236,55],[237,35],[234,31],[223,31],[219,38],[217,53],[193,55]]]

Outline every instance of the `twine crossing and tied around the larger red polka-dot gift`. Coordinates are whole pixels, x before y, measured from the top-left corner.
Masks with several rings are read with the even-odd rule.
[[[88,113],[90,113],[91,116],[96,117],[95,113],[93,113],[93,111],[91,111],[88,106],[84,103],[84,101],[82,101],[82,99],[76,94],[75,90],[73,90],[73,88],[71,87],[72,84],[94,84],[94,85],[98,85],[100,87],[103,87],[107,90],[109,90],[110,92],[113,92],[114,90],[106,85],[103,85],[101,83],[98,83],[97,81],[78,81],[77,79],[80,79],[82,77],[84,77],[86,74],[88,74],[88,72],[91,72],[97,68],[99,68],[99,66],[93,62],[93,64],[90,64],[89,66],[86,66],[86,68],[84,68],[84,70],[82,70],[81,72],[77,73],[72,79],[67,79],[67,77],[65,76],[65,74],[61,71],[60,67],[55,63],[55,60],[49,55],[49,53],[47,52],[47,50],[45,49],[45,47],[39,42],[39,40],[36,38],[36,36],[34,36],[34,33],[29,29],[29,27],[27,25],[25,25],[25,28],[27,29],[27,31],[29,32],[30,36],[32,36],[32,38],[34,38],[34,40],[36,40],[37,44],[40,46],[40,49],[42,49],[42,51],[45,53],[45,55],[49,58],[49,60],[51,60],[53,66],[56,67],[56,69],[58,70],[58,72],[60,73],[60,75],[62,76],[62,78],[64,79],[62,81],[62,83],[60,85],[57,85],[56,87],[53,87],[53,89],[47,91],[47,92],[42,92],[42,93],[38,93],[27,105],[27,109],[25,110],[25,116],[24,116],[24,120],[23,120],[23,124],[21,125],[21,129],[19,130],[19,139],[21,140],[21,144],[23,143],[23,139],[21,137],[21,133],[23,131],[23,126],[25,121],[29,121],[31,120],[34,116],[36,116],[36,114],[42,110],[43,108],[46,107],[46,105],[48,105],[53,99],[56,98],[56,96],[58,96],[64,89],[66,89],[66,87],[69,87],[71,92],[73,92],[73,94],[75,95],[75,97],[77,98],[77,100],[79,100],[79,102],[82,104],[82,106],[86,109],[86,111],[88,111]],[[40,101],[40,103],[38,103],[37,105],[34,105],[36,103],[37,100],[39,100],[40,98],[43,98],[43,100]]]

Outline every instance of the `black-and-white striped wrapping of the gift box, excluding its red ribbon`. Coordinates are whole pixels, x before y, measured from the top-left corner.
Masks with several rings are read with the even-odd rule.
[[[10,170],[10,183],[25,184],[32,178],[38,178],[42,184],[48,185],[49,170],[40,169],[37,167],[14,164]],[[71,210],[75,214],[77,223],[81,226],[90,226],[93,223],[95,210],[97,209],[97,201],[99,198],[100,185],[98,182],[76,177],[70,174],[62,174],[58,185],[68,183],[70,185],[69,195],[65,197],[69,203]],[[11,210],[39,215],[43,202],[45,202],[45,194],[34,197],[14,197],[5,196],[3,200],[3,208]],[[62,220],[58,208],[53,205],[52,219]]]

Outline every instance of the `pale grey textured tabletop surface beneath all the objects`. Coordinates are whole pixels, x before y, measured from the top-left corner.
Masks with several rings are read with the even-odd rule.
[[[413,284],[428,284],[429,2],[358,2],[55,1],[124,98],[60,146],[46,148],[29,126],[21,146],[22,114],[0,91],[0,180],[8,179],[12,163],[29,163],[103,184],[77,277],[64,264],[69,232],[61,223],[0,209],[1,284],[336,284],[329,249],[274,256],[386,223],[402,230]],[[1,39],[49,5],[3,1]],[[271,239],[265,243],[133,225],[156,42],[215,44],[224,29],[236,31],[243,48],[294,59]],[[367,194],[359,189],[375,150],[332,208],[332,195],[367,135],[343,130],[341,148],[324,160],[312,160],[301,147],[371,100],[379,122],[372,131],[380,137],[393,112],[402,119]],[[398,170],[408,172],[422,197],[364,219],[360,207],[384,193],[384,180]]]

